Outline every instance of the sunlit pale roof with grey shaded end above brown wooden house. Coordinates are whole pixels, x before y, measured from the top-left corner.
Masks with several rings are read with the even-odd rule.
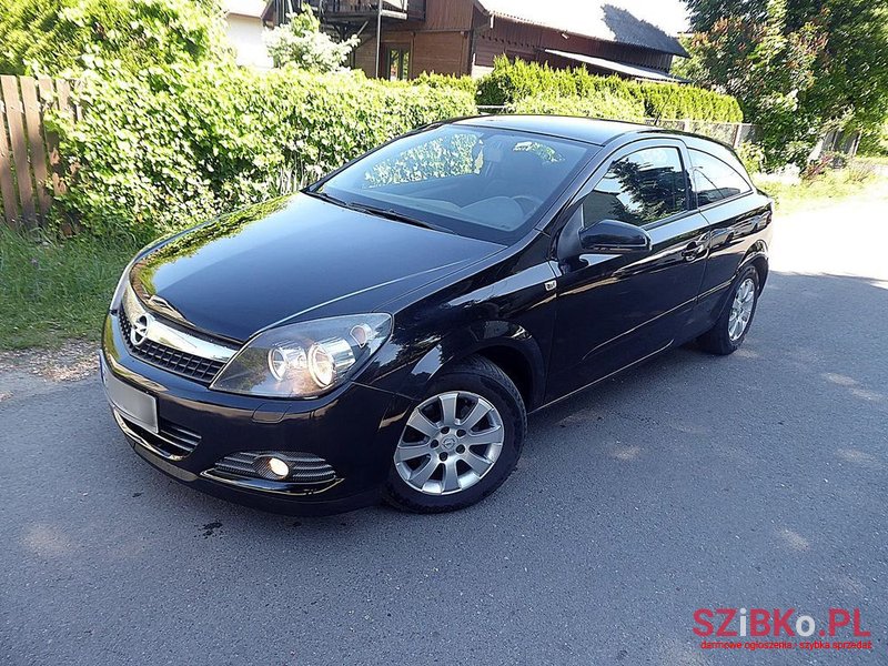
[[[476,0],[492,17],[603,41],[688,57],[678,39],[649,22],[640,0]]]

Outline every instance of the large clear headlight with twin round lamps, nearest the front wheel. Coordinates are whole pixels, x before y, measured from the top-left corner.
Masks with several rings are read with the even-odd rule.
[[[355,314],[271,329],[246,343],[210,389],[313,397],[341,385],[392,334],[389,314]]]

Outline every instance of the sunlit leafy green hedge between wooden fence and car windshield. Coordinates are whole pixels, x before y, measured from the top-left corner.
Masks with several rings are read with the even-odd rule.
[[[85,72],[83,118],[50,118],[59,221],[145,239],[314,180],[387,139],[476,112],[471,94],[363,74],[233,67]]]

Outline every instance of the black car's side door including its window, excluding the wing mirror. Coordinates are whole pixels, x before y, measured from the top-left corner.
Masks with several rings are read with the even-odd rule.
[[[693,210],[687,150],[633,142],[603,163],[563,213],[547,398],[556,400],[675,340],[699,293],[707,221]],[[604,221],[638,226],[643,252],[589,252],[578,238]],[[557,228],[557,224],[556,224]]]

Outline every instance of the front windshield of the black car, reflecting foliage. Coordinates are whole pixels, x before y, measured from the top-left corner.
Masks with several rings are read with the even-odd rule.
[[[506,244],[537,223],[597,149],[539,134],[448,124],[393,141],[309,192]]]

